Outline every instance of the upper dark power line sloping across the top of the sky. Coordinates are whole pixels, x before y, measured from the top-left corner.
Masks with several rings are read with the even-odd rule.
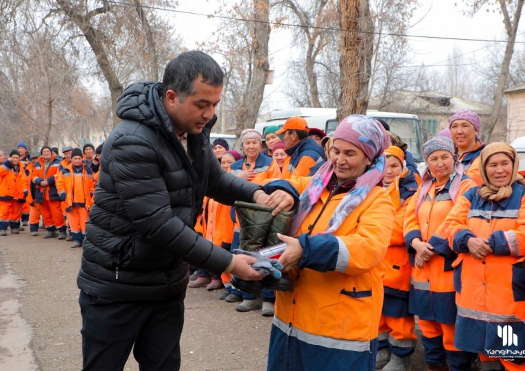
[[[126,5],[126,6],[133,6],[133,7],[140,6],[141,8],[145,8],[145,9],[163,10],[165,12],[205,16],[207,18],[229,19],[231,21],[242,21],[242,22],[253,22],[253,23],[266,23],[268,25],[279,25],[279,26],[288,26],[288,27],[311,28],[312,30],[325,30],[325,31],[336,31],[336,32],[356,32],[360,34],[374,34],[374,35],[382,34],[386,36],[401,36],[401,37],[427,38],[427,39],[430,38],[434,40],[477,41],[477,42],[482,42],[482,43],[506,43],[507,42],[506,40],[486,40],[484,38],[460,38],[460,37],[447,37],[447,36],[410,35],[410,34],[397,34],[397,33],[390,33],[390,32],[375,32],[375,31],[350,31],[350,30],[343,30],[342,28],[338,28],[338,27],[304,26],[304,25],[298,25],[295,23],[259,21],[257,19],[244,19],[240,17],[224,16],[220,14],[204,14],[204,13],[199,13],[199,12],[189,12],[187,10],[177,10],[174,8],[165,8],[165,7],[154,6],[154,5],[136,5],[134,3],[126,3],[125,1],[106,0],[106,2],[113,3],[115,5]],[[515,44],[525,44],[525,41],[515,41],[514,43]]]

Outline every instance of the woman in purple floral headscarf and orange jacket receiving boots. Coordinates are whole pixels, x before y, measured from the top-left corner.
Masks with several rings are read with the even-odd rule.
[[[361,115],[333,139],[313,177],[290,180],[301,197],[279,260],[294,291],[277,291],[268,370],[374,370],[395,214],[381,181],[390,139]]]

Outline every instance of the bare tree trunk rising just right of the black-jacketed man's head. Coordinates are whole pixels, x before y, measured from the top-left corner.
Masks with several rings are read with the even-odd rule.
[[[253,0],[255,22],[253,23],[253,71],[249,86],[242,100],[242,107],[237,112],[237,136],[244,128],[253,128],[259,115],[263,100],[266,75],[270,68],[268,62],[268,41],[270,40],[269,4],[268,0]]]

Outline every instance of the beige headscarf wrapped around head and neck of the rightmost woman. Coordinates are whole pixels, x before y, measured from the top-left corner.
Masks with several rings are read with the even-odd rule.
[[[489,177],[487,177],[487,170],[485,170],[485,166],[487,165],[487,161],[489,161],[489,157],[495,155],[496,153],[504,153],[505,155],[509,155],[513,161],[512,180],[509,186],[496,187],[489,181]],[[483,179],[483,185],[480,187],[479,192],[480,196],[482,196],[484,199],[489,199],[492,201],[508,199],[512,194],[512,183],[519,181],[525,185],[525,179],[517,172],[518,168],[520,167],[520,159],[517,158],[516,150],[509,144],[498,142],[487,145],[481,151],[480,159],[480,174],[481,179]]]

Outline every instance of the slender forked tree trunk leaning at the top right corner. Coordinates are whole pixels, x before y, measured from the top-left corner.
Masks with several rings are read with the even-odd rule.
[[[509,76],[509,66],[511,65],[512,55],[514,54],[514,43],[516,41],[517,26],[520,23],[520,17],[522,16],[522,8],[525,0],[517,0],[516,10],[512,20],[509,16],[506,1],[498,1],[500,2],[500,7],[504,18],[507,41],[503,63],[500,70],[500,76],[498,78],[498,87],[494,93],[494,105],[492,106],[491,116],[489,118],[489,122],[484,123],[482,126],[484,129],[481,133],[482,139],[487,143],[490,142],[494,128],[500,119],[505,83],[507,77]]]

